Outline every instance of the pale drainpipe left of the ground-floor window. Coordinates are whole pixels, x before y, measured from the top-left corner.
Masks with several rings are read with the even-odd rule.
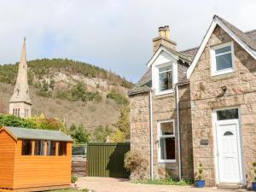
[[[150,180],[154,179],[153,173],[153,97],[152,97],[153,89],[151,88],[149,91],[149,119],[150,119]]]

